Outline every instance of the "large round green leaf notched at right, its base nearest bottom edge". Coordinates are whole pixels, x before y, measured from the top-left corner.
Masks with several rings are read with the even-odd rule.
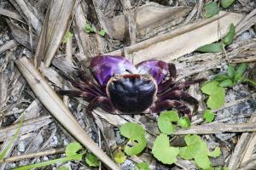
[[[169,138],[161,133],[154,141],[152,153],[154,157],[165,164],[171,165],[177,161],[178,148],[170,146]]]

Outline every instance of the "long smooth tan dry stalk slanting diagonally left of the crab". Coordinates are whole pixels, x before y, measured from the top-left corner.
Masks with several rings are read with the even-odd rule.
[[[119,169],[119,167],[104,153],[96,143],[90,139],[90,137],[84,132],[84,129],[79,125],[75,117],[67,107],[62,103],[61,99],[55,91],[49,87],[49,84],[44,81],[37,69],[32,63],[22,57],[15,61],[22,76],[26,79],[26,82],[32,88],[33,93],[42,102],[42,104],[48,109],[48,111],[55,117],[55,119],[61,123],[63,127],[67,129],[69,133],[73,135],[85,148],[90,150],[96,155],[103,163],[111,169]]]

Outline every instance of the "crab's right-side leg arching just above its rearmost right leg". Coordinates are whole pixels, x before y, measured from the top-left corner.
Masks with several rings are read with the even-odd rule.
[[[183,101],[188,102],[190,105],[194,105],[194,111],[197,111],[198,105],[199,105],[199,102],[197,99],[179,90],[171,91],[158,96],[159,101],[163,101],[165,99],[182,99]]]

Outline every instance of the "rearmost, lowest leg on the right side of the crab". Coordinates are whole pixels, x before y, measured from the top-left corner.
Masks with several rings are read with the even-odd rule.
[[[159,103],[156,103],[154,106],[150,107],[150,111],[153,113],[159,113],[160,111],[170,110],[172,107],[177,109],[177,111],[183,115],[189,116],[189,119],[191,119],[191,111],[189,110],[189,107],[177,100],[166,99],[160,101]]]

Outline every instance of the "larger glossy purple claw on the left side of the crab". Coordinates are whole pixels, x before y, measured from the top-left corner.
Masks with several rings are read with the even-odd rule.
[[[116,74],[136,74],[137,69],[131,61],[121,56],[99,55],[91,59],[90,71],[96,81],[105,86]]]

